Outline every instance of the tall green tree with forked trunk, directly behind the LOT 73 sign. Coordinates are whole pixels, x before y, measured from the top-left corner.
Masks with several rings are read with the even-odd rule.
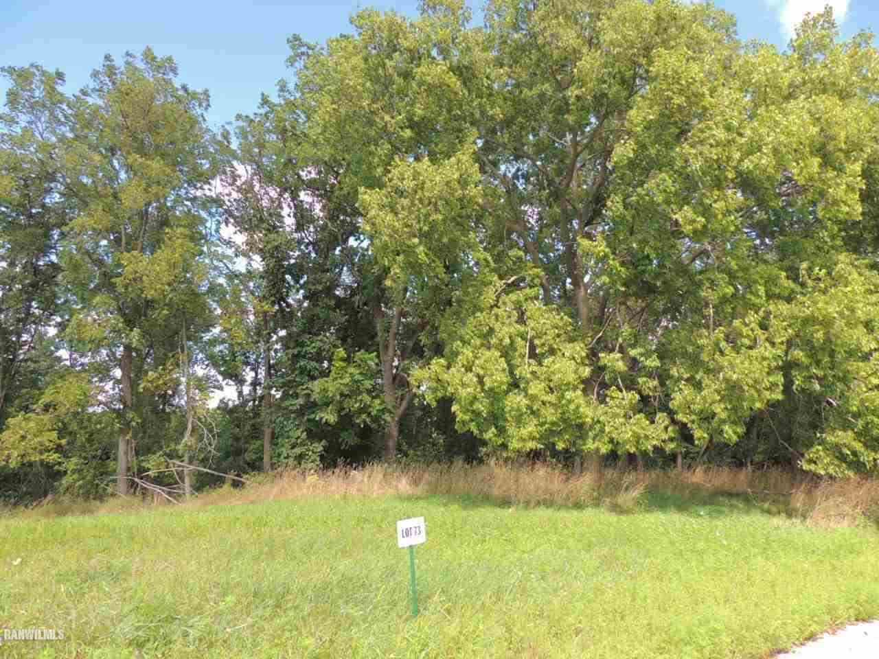
[[[360,260],[352,258],[348,267],[369,298],[374,323],[381,371],[377,393],[386,408],[386,460],[396,457],[400,421],[414,395],[407,371],[418,361],[416,351],[425,347],[418,342],[431,322],[425,311],[433,293],[425,289],[425,278],[444,274],[436,264],[430,272],[412,272],[409,266],[440,243],[456,240],[446,233],[454,229],[454,220],[449,224],[445,213],[469,205],[469,178],[478,177],[457,158],[473,139],[466,119],[469,98],[456,70],[475,69],[475,62],[467,60],[468,20],[461,3],[425,4],[416,21],[392,12],[361,11],[352,18],[353,37],[303,52],[288,102],[302,131],[296,162],[303,171],[332,177],[332,200],[322,201],[344,206],[356,222],[358,242],[368,240],[377,248],[374,256],[367,252]],[[445,159],[451,170],[439,165]],[[442,185],[457,184],[461,177],[468,179],[461,199],[447,199],[448,188]],[[425,208],[438,201],[449,207],[433,213]],[[417,225],[409,240],[420,257],[401,259],[394,250],[379,247],[390,242],[385,232],[398,227],[394,214]],[[431,221],[442,224],[429,228]],[[418,247],[426,235],[439,242]]]

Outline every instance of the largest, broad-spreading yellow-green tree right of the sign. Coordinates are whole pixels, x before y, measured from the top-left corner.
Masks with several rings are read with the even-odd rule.
[[[805,303],[793,284],[803,264],[832,268],[846,240],[870,244],[854,220],[875,157],[868,38],[840,44],[825,13],[803,24],[790,54],[743,49],[728,15],[672,2],[503,0],[486,17],[492,83],[467,79],[484,95],[475,105],[491,109],[476,125],[493,189],[483,198],[505,219],[519,277],[539,286],[546,313],[573,319],[588,347],[573,389],[554,393],[592,398],[573,406],[584,410],[575,445],[673,450],[686,445],[678,430],[700,452],[737,442],[793,392],[778,372],[793,368],[785,341],[802,339],[767,315],[774,301]],[[554,352],[546,341],[530,347],[541,344],[536,312],[509,290],[491,304],[519,325],[521,350],[499,351],[489,371],[464,358],[491,354],[507,333],[492,327],[489,305],[457,315],[457,336],[430,373],[469,410],[460,424],[534,447],[501,432],[524,427],[503,414],[539,400],[520,369]],[[490,381],[500,388],[488,398],[503,404],[483,404]],[[570,445],[557,428],[532,436]]]

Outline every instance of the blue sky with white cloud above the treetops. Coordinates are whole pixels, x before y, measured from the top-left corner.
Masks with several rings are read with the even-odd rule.
[[[879,32],[876,0],[716,0],[737,16],[743,39],[780,47],[804,11],[819,10],[825,3],[844,16],[846,36],[860,29]],[[481,4],[476,0],[476,6]],[[272,92],[288,75],[288,35],[323,41],[348,32],[348,18],[360,7],[414,15],[418,3],[265,0],[223,5],[216,0],[0,0],[0,65],[37,62],[62,69],[73,91],[88,83],[91,69],[105,53],[120,57],[149,45],[156,54],[174,57],[182,82],[211,92],[209,119],[216,126],[236,112],[253,111],[260,93]]]

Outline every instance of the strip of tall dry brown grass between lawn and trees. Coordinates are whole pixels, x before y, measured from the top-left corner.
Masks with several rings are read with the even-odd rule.
[[[598,473],[571,474],[541,462],[460,462],[430,467],[370,464],[323,471],[291,470],[258,474],[244,487],[223,487],[200,493],[187,507],[235,505],[308,496],[448,496],[514,506],[578,507],[602,505],[617,512],[636,511],[650,495],[686,503],[712,503],[741,497],[766,510],[822,526],[854,525],[864,518],[879,521],[879,480],[851,478],[823,481],[781,469],[750,470],[694,467],[683,471],[632,471],[605,468]],[[137,497],[105,502],[48,501],[27,517],[130,512],[171,505],[145,503]],[[19,511],[21,512],[21,511]]]

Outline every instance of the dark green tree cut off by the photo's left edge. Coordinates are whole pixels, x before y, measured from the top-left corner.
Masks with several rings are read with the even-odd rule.
[[[11,87],[0,113],[0,427],[33,367],[39,378],[51,363],[58,242],[71,212],[58,163],[69,112],[64,76],[38,66],[2,70]]]

